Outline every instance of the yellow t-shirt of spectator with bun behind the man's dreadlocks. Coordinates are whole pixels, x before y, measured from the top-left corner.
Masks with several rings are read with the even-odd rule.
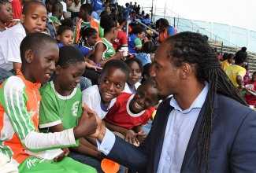
[[[243,79],[243,76],[247,73],[247,70],[239,65],[234,64],[226,67],[225,72],[228,75],[228,78],[237,87],[239,86],[239,84],[236,82],[237,75],[241,75]]]

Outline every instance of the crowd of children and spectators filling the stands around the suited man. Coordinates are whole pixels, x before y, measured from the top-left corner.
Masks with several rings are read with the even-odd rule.
[[[143,142],[159,101],[150,78],[154,50],[176,28],[165,19],[156,22],[159,34],[135,23],[126,28],[139,6],[102,0],[28,1],[15,25],[13,9],[20,7],[13,4],[0,0],[0,153],[20,172],[103,172],[93,135],[97,121],[127,142]],[[140,17],[154,28],[148,14]],[[256,72],[243,81],[245,61],[242,48],[221,67],[247,90],[244,98],[254,109]],[[63,153],[47,161],[26,153],[51,149]]]

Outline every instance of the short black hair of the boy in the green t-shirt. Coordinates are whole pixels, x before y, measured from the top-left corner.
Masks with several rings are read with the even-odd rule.
[[[84,57],[83,53],[75,46],[60,47],[59,59],[56,65],[61,66],[61,68],[69,68],[76,66],[79,62],[84,62]]]

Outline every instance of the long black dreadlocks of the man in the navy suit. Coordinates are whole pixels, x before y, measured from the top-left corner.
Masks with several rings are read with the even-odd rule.
[[[179,67],[184,63],[191,64],[192,67],[195,67],[198,82],[209,83],[206,111],[203,115],[197,143],[198,169],[206,167],[208,172],[213,105],[216,93],[224,94],[243,105],[247,105],[247,103],[221,69],[216,52],[202,35],[187,31],[173,35],[165,42],[170,42],[170,46],[172,46],[172,49],[167,52],[167,57],[172,58],[174,66]]]

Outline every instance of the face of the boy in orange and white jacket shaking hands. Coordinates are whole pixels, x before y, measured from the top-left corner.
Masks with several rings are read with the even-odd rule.
[[[26,68],[28,72],[24,72],[24,74],[27,74],[26,78],[32,83],[47,83],[50,75],[55,70],[58,53],[59,50],[56,43],[49,43],[37,53],[27,50],[25,58],[28,63],[28,68]]]

